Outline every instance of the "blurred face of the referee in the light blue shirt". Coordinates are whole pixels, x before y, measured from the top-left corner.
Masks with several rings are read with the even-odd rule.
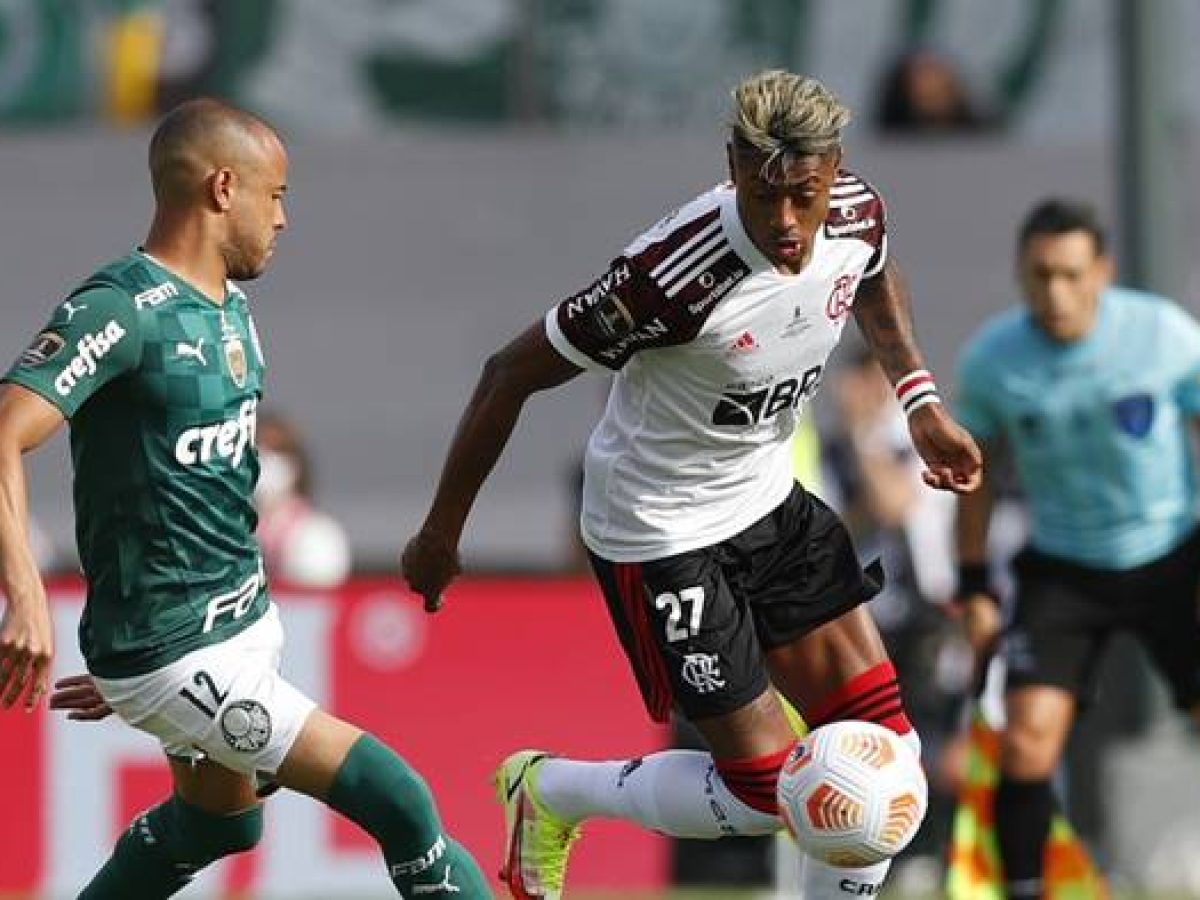
[[[1112,265],[1087,232],[1034,234],[1021,248],[1018,274],[1034,320],[1066,343],[1092,330]]]

